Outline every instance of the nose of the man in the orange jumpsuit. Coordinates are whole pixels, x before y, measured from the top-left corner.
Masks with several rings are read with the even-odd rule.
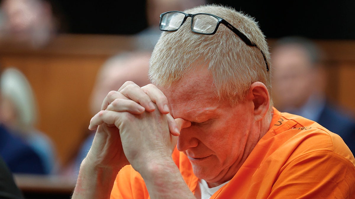
[[[197,147],[198,139],[195,134],[196,132],[193,131],[193,127],[186,127],[181,129],[180,135],[178,137],[178,143],[176,145],[178,150],[184,152],[189,148]]]

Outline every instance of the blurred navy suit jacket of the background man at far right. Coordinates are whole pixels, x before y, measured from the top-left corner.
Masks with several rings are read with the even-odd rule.
[[[355,120],[342,108],[327,102],[317,122],[329,131],[340,135],[355,154]]]

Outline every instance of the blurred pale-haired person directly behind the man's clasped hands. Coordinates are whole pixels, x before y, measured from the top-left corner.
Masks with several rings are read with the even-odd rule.
[[[102,105],[103,99],[110,91],[117,91],[126,81],[134,81],[140,86],[149,84],[148,66],[151,51],[124,51],[110,57],[99,69],[90,97],[90,109],[95,115]],[[95,131],[88,131],[77,156],[65,171],[68,176],[77,176],[82,160],[89,151]],[[73,174],[74,173],[74,174]]]

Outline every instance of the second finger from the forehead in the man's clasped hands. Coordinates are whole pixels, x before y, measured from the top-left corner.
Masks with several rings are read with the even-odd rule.
[[[126,81],[118,91],[125,97],[141,104],[141,106],[144,107],[146,111],[153,112],[155,110],[155,106],[151,98],[145,92],[143,92],[141,87],[132,81]]]

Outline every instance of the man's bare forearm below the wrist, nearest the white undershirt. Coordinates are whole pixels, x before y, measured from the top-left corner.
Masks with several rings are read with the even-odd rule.
[[[148,167],[141,175],[151,198],[196,199],[172,159]]]

